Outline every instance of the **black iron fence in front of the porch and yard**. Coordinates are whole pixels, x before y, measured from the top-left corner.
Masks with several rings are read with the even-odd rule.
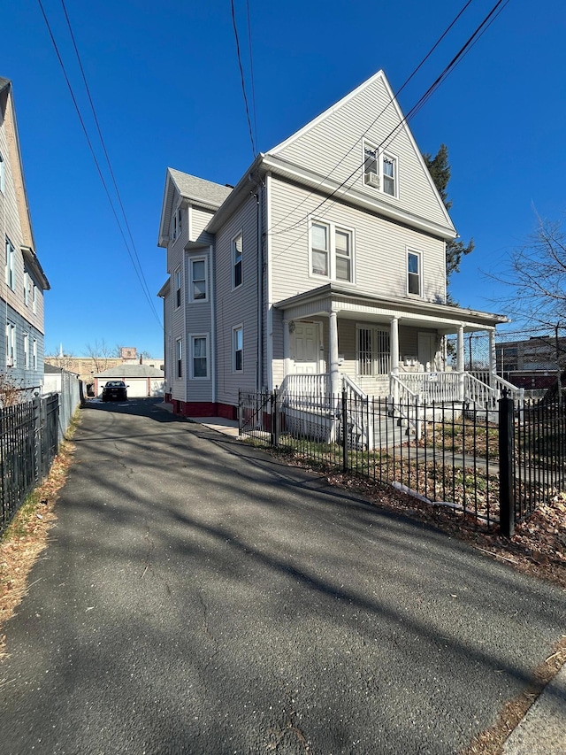
[[[519,412],[501,399],[486,412],[277,390],[241,391],[239,404],[240,433],[256,443],[453,506],[503,534],[566,490],[566,413],[557,404]]]

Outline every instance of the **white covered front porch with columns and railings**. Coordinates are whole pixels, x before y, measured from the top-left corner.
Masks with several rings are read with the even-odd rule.
[[[315,402],[342,389],[394,404],[418,398],[486,411],[495,408],[502,389],[522,398],[496,374],[495,327],[507,321],[502,315],[409,297],[384,299],[332,283],[279,302],[274,312],[282,337],[280,353],[273,354],[272,386]],[[488,364],[470,372],[464,368],[464,334],[478,331],[488,334]],[[455,335],[451,352],[449,335]]]

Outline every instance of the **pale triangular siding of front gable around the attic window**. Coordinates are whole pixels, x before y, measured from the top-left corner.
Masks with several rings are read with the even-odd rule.
[[[348,187],[446,227],[443,205],[406,124],[384,145],[398,161],[398,198],[363,183],[363,142],[379,147],[401,122],[390,100],[384,79],[374,77],[356,95],[335,105],[325,118],[273,151],[296,166],[329,175],[339,183],[347,181]]]

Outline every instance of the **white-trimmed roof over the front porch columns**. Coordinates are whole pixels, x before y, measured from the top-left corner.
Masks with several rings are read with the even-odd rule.
[[[379,297],[368,291],[350,289],[336,283],[326,283],[317,289],[303,291],[294,297],[273,304],[285,313],[287,320],[337,312],[349,320],[387,321],[396,317],[405,324],[433,327],[446,333],[455,332],[461,325],[464,330],[492,330],[509,322],[502,314],[478,312],[449,304],[426,302],[422,299]]]

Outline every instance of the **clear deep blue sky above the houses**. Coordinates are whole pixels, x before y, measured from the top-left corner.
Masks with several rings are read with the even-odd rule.
[[[402,91],[404,112],[494,2],[473,0]],[[111,187],[63,6],[42,3]],[[234,4],[250,85],[246,2]],[[249,0],[259,150],[379,69],[399,89],[463,4]],[[235,184],[253,158],[230,2],[66,0],[65,7],[160,320],[156,295],[166,271],[157,229],[166,167]],[[36,250],[51,284],[46,351],[63,343],[79,355],[104,341],[159,356],[160,323],[112,215],[37,0],[5,3],[2,29],[0,75],[13,82]],[[510,0],[410,122],[422,151],[447,144],[451,214],[463,240],[476,242],[452,286],[463,306],[501,312],[505,292],[481,271],[504,269],[505,255],[535,226],[533,208],[553,220],[566,210],[564,39],[562,0]]]

